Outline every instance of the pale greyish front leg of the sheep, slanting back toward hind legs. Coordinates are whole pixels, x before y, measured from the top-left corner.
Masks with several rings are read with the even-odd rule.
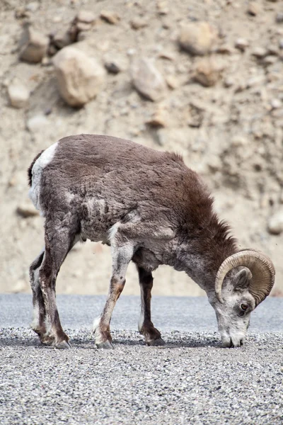
[[[98,348],[113,348],[110,334],[110,321],[117,299],[120,297],[125,286],[125,275],[129,261],[131,261],[134,246],[124,244],[122,246],[112,245],[112,276],[110,288],[103,312],[93,322],[93,331]]]

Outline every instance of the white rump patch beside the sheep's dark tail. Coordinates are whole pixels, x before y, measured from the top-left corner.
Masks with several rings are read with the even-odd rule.
[[[57,148],[58,142],[54,143],[54,145],[51,145],[50,147],[47,147],[45,149],[45,152],[42,152],[40,157],[37,158],[35,161],[35,164],[33,164],[32,169],[32,186],[30,188],[30,191],[28,193],[28,196],[33,201],[33,205],[35,205],[35,208],[37,210],[40,210],[40,180],[42,175],[42,170],[49,164],[53,157],[55,150]]]

